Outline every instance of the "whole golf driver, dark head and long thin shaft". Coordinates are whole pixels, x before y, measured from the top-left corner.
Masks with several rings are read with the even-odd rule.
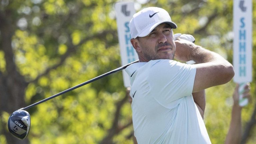
[[[96,80],[98,80],[98,79],[100,79],[100,78],[103,78],[103,77],[105,77],[105,76],[108,76],[108,75],[110,75],[110,74],[112,74],[112,73],[115,73],[115,72],[118,72],[118,71],[120,71],[120,70],[123,70],[123,69],[125,69],[126,67],[128,67],[129,65],[131,65],[131,64],[133,64],[133,63],[136,63],[136,62],[139,62],[139,60],[134,61],[134,62],[131,62],[131,63],[126,64],[126,65],[124,65],[124,66],[121,66],[121,67],[119,67],[119,68],[117,68],[117,69],[114,69],[114,70],[112,70],[112,71],[110,71],[110,72],[107,72],[107,73],[105,73],[105,74],[102,74],[102,75],[100,75],[100,76],[97,76],[97,77],[95,77],[95,78],[93,78],[93,79],[91,79],[91,80],[88,80],[88,81],[83,82],[83,83],[81,83],[81,84],[79,84],[79,85],[76,85],[76,86],[74,86],[74,87],[72,87],[72,88],[69,88],[69,89],[67,89],[67,90],[64,90],[64,91],[62,91],[62,92],[60,92],[60,93],[58,93],[58,94],[55,94],[55,95],[50,96],[50,97],[48,97],[48,98],[46,98],[46,99],[43,99],[43,100],[41,100],[41,101],[39,101],[39,102],[36,102],[36,103],[34,103],[34,104],[31,104],[31,105],[29,105],[29,106],[27,106],[27,107],[25,107],[25,108],[21,108],[21,109],[19,109],[19,110],[16,110],[15,112],[13,112],[13,113],[10,115],[10,117],[9,117],[9,119],[8,119],[8,130],[10,131],[10,133],[11,133],[13,136],[15,136],[15,137],[18,138],[18,139],[24,139],[24,138],[26,138],[27,135],[28,135],[29,129],[30,129],[30,115],[29,115],[29,113],[28,113],[27,111],[25,111],[26,109],[29,109],[29,108],[31,108],[31,107],[33,107],[33,106],[35,106],[35,105],[38,105],[38,104],[43,103],[43,102],[45,102],[45,101],[48,101],[48,100],[50,100],[50,99],[52,99],[52,98],[55,98],[55,97],[57,97],[57,96],[59,96],[59,95],[62,95],[62,94],[64,94],[64,93],[66,93],[66,92],[69,92],[69,91],[71,91],[71,90],[74,90],[74,89],[76,89],[76,88],[79,88],[79,87],[81,87],[81,86],[84,86],[84,85],[86,85],[86,84],[89,84],[89,83],[91,83],[91,82],[93,82],[93,81],[96,81]]]

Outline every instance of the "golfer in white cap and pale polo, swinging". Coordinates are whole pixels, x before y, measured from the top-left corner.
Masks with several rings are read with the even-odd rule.
[[[125,70],[131,76],[134,135],[139,144],[209,144],[210,139],[192,92],[225,84],[233,66],[217,53],[192,42],[174,41],[167,11],[145,8],[130,21],[131,44],[139,63]],[[189,65],[174,61],[194,60]]]

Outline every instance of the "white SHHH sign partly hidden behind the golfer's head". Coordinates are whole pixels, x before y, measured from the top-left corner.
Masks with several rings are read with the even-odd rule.
[[[138,55],[134,50],[130,39],[129,23],[135,14],[133,2],[117,2],[115,4],[117,32],[120,46],[120,54],[122,65],[126,65],[135,60],[138,60]],[[130,76],[123,70],[124,86],[130,87]]]

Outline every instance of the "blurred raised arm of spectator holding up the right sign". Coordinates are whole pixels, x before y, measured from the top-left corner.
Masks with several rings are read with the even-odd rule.
[[[241,111],[242,107],[239,106],[239,93],[238,93],[239,85],[236,85],[235,91],[233,93],[233,107],[231,113],[231,122],[228,130],[228,134],[225,140],[225,144],[239,144],[242,137],[242,124],[241,124]],[[250,85],[247,84],[244,87],[245,92],[243,93],[243,97],[250,97]]]

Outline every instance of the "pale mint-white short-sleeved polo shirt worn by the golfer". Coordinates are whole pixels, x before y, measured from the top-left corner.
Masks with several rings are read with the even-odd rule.
[[[138,144],[210,144],[194,103],[194,65],[151,60],[128,66],[132,119]]]

